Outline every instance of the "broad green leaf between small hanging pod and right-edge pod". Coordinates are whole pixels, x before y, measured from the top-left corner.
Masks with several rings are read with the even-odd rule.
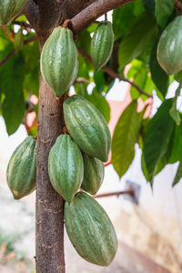
[[[142,53],[153,36],[155,28],[154,22],[146,15],[130,28],[128,35],[123,38],[119,46],[120,66],[126,66]]]

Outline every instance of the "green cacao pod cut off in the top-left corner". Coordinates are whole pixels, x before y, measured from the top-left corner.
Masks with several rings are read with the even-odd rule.
[[[22,11],[27,0],[0,0],[0,25],[6,25]]]

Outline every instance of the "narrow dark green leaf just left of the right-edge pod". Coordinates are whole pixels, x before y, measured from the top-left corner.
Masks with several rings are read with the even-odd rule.
[[[157,43],[155,43],[153,46],[150,56],[149,67],[153,82],[157,86],[160,93],[165,97],[167,95],[168,76],[167,73],[158,65]]]

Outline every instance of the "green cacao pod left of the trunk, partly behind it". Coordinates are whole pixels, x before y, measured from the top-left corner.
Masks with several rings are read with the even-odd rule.
[[[35,190],[36,184],[36,141],[33,136],[27,136],[16,147],[9,160],[6,180],[15,199],[25,197]]]

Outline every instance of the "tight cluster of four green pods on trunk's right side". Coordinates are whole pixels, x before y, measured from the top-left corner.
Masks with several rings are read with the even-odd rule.
[[[93,197],[101,187],[111,136],[104,116],[82,96],[64,102],[69,135],[56,139],[48,157],[48,173],[56,191],[66,200],[65,223],[77,253],[100,266],[116,255],[115,229]],[[79,188],[87,193],[78,192]]]

